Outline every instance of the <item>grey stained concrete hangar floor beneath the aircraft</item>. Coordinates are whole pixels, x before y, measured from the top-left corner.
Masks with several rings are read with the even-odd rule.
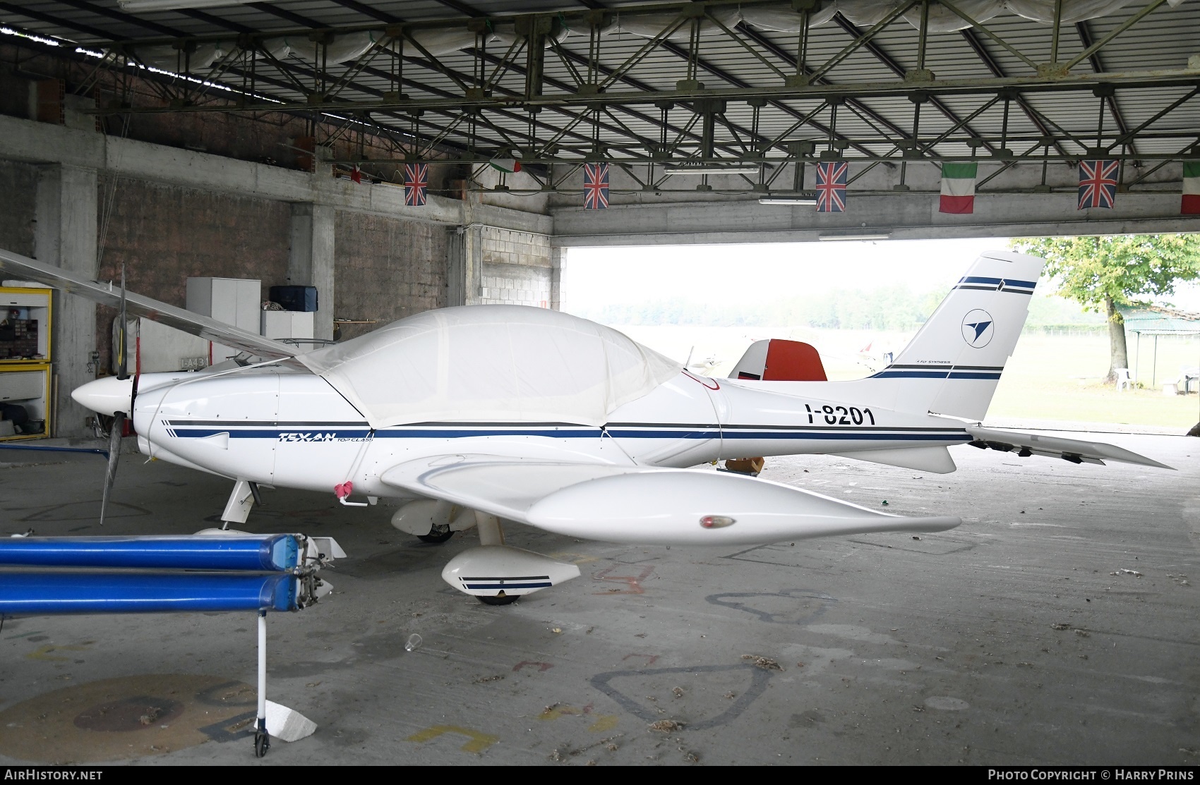
[[[730,551],[510,526],[583,575],[505,608],[439,578],[473,533],[422,545],[384,507],[268,491],[247,529],[350,554],[334,596],[269,620],[270,695],[316,735],[256,761],[238,730],[251,615],[25,618],[0,630],[0,763],[1194,765],[1200,440],[1103,439],[1180,471],[971,447],[948,476],[768,459],[770,479],[964,525]],[[0,460],[0,533],[193,532],[229,490],[126,455],[101,532],[101,459]]]

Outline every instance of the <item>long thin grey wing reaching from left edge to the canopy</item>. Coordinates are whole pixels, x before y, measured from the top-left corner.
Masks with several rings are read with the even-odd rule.
[[[112,308],[121,307],[121,290],[113,284],[101,284],[89,280],[83,276],[42,264],[36,259],[14,254],[11,250],[0,249],[0,272],[7,273],[20,280],[35,280],[47,286],[54,286],[72,295],[86,297],[102,306]],[[154,321],[182,330],[186,333],[199,336],[205,340],[211,340],[233,349],[238,349],[256,357],[265,360],[282,360],[294,357],[300,354],[295,346],[271,340],[263,336],[252,333],[233,325],[220,322],[216,319],[202,316],[200,314],[176,308],[158,300],[143,297],[132,292],[125,296],[126,310],[134,316],[144,316]]]

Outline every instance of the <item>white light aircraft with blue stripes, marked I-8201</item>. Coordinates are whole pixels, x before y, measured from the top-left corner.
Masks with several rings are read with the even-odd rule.
[[[234,481],[227,524],[246,521],[262,484],[332,493],[348,506],[400,500],[392,525],[427,542],[478,529],[480,547],[452,558],[443,578],[490,604],[580,574],[505,545],[500,519],[589,539],[686,545],[961,523],[688,469],[722,459],[824,453],[950,472],[947,447],[971,443],[1169,469],[1111,445],[980,424],[1043,264],[1010,252],[982,255],[892,364],[830,382],[806,344],[758,342],[731,379],[710,379],[608,327],[521,306],[426,312],[300,352],[0,252],[0,270],[14,277],[262,360],[132,378],[122,364],[118,376],[77,388],[77,401],[115,417],[106,500],[120,425],[131,417],[143,453]]]

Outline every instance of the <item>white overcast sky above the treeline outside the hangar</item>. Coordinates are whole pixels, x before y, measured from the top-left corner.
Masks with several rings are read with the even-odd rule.
[[[563,309],[670,297],[736,304],[895,284],[928,291],[958,280],[980,252],[1006,248],[1007,237],[571,248]],[[1181,286],[1171,302],[1200,312],[1200,288]]]

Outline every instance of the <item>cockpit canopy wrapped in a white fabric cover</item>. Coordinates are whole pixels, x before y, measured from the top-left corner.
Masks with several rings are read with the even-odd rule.
[[[422,422],[601,425],[682,366],[587,319],[461,306],[298,357],[372,428]]]

